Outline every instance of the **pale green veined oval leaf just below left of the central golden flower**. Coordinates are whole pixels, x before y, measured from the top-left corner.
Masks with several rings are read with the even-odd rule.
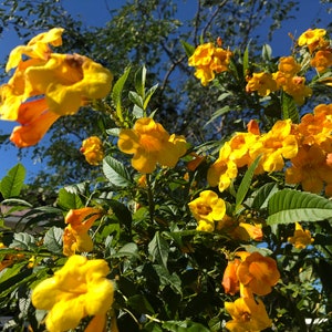
[[[111,156],[106,156],[103,160],[103,173],[114,186],[124,188],[132,184],[132,177],[127,168]]]

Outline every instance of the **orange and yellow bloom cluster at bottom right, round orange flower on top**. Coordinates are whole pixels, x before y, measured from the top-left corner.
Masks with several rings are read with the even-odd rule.
[[[222,278],[226,293],[240,292],[235,302],[225,302],[232,320],[226,328],[234,332],[261,331],[271,326],[263,302],[256,295],[267,295],[280,279],[276,261],[259,252],[237,252],[239,258],[228,262]]]

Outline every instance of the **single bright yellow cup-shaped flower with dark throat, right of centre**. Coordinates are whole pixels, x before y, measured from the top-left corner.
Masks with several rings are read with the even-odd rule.
[[[212,230],[215,220],[221,220],[226,214],[225,201],[212,190],[200,191],[199,197],[191,200],[188,206],[198,224],[203,221],[204,225],[211,225]]]

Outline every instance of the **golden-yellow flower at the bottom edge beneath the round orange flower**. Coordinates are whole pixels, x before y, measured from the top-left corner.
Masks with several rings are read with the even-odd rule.
[[[226,323],[231,332],[258,332],[272,325],[261,300],[240,298],[235,302],[225,302],[232,320]]]

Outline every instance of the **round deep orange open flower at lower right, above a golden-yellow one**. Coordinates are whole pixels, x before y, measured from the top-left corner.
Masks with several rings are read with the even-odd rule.
[[[237,269],[239,282],[258,295],[266,295],[280,279],[277,262],[259,252],[247,255]]]

